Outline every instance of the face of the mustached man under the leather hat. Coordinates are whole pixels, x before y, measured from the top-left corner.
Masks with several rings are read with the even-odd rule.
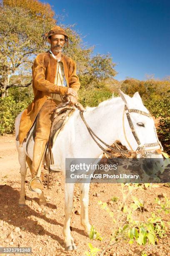
[[[62,51],[62,47],[65,44],[65,36],[64,35],[52,35],[50,39],[48,39],[51,44],[51,49],[55,52]]]

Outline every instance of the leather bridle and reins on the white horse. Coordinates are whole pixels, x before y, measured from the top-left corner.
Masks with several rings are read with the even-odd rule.
[[[145,143],[145,144],[141,144],[140,143],[140,140],[138,138],[138,135],[135,131],[135,128],[134,128],[134,125],[133,125],[133,122],[130,118],[130,113],[138,113],[140,115],[145,115],[145,116],[148,116],[149,118],[152,118],[152,116],[150,115],[150,113],[146,113],[144,111],[141,111],[141,110],[138,110],[138,109],[133,109],[133,108],[130,108],[128,109],[127,105],[125,104],[125,108],[124,108],[124,111],[123,111],[123,116],[122,116],[122,120],[123,120],[123,132],[124,132],[124,136],[125,136],[125,140],[126,142],[128,143],[129,147],[130,147],[130,150],[123,150],[120,148],[120,146],[117,145],[117,143],[113,143],[113,145],[115,145],[115,147],[113,146],[110,146],[108,145],[107,143],[105,143],[104,141],[102,141],[93,131],[92,129],[89,127],[89,125],[86,123],[85,121],[85,118],[83,116],[83,111],[80,110],[80,116],[83,120],[83,122],[85,123],[86,127],[87,127],[87,130],[88,132],[90,133],[90,136],[92,137],[92,139],[95,141],[95,143],[97,143],[97,145],[102,149],[103,152],[105,152],[105,154],[108,154],[110,155],[110,157],[112,157],[112,155],[103,147],[100,145],[100,143],[97,142],[97,140],[99,140],[100,142],[102,142],[102,144],[104,144],[105,146],[107,146],[107,148],[110,148],[112,151],[114,152],[119,152],[120,154],[122,154],[123,156],[126,157],[126,154],[140,154],[141,157],[146,157],[147,155],[147,151],[158,151],[159,154],[161,154],[161,152],[163,151],[163,147],[160,143],[160,141],[158,140],[158,136],[157,136],[157,133],[156,133],[156,129],[155,129],[155,125],[154,125],[154,131],[155,131],[155,136],[157,138],[157,142],[155,143]],[[124,125],[124,114],[126,114],[126,117],[128,119],[128,123],[129,123],[129,126],[130,126],[130,129],[131,129],[131,132],[133,133],[133,137],[135,138],[136,142],[138,143],[138,148],[133,151],[133,148],[130,146],[130,143],[127,139],[127,136],[126,136],[126,133],[125,133],[125,125]],[[96,140],[97,138],[97,140]]]

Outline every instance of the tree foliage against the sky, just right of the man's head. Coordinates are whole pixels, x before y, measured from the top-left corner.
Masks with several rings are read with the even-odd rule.
[[[61,27],[65,28],[62,24]],[[94,47],[87,47],[82,42],[81,36],[74,30],[74,25],[65,28],[70,43],[64,48],[64,54],[74,59],[77,66],[77,74],[81,87],[89,89],[89,86],[98,85],[109,77],[115,77],[116,64],[113,63],[110,54],[97,54],[92,56]]]

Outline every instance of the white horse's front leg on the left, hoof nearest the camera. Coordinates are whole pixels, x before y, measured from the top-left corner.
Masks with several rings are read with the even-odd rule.
[[[66,251],[72,251],[76,249],[74,240],[70,232],[70,219],[73,210],[73,194],[74,194],[74,184],[65,183],[65,223],[63,227],[64,243]]]

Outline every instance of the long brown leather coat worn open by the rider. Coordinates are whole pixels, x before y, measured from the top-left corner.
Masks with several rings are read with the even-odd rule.
[[[22,143],[30,131],[35,118],[42,105],[50,97],[50,93],[67,95],[68,87],[76,92],[80,88],[80,82],[76,74],[75,62],[62,55],[60,60],[63,63],[67,87],[57,86],[54,84],[57,71],[57,60],[49,52],[38,54],[32,66],[32,87],[34,99],[30,105],[23,111],[20,120],[18,139]]]

